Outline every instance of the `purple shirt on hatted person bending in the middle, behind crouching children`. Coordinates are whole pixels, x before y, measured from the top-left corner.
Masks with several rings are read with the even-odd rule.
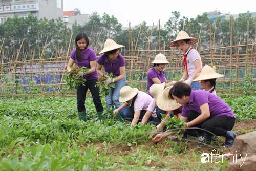
[[[147,72],[147,94],[150,94],[150,87],[154,84],[152,81],[153,78],[158,78],[161,83],[165,82],[165,73],[164,71],[157,72],[155,68],[152,66],[150,71]],[[151,96],[153,98],[153,96]]]

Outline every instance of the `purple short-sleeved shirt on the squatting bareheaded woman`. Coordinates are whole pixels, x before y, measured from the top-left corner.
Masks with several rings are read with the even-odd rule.
[[[216,118],[222,115],[236,118],[233,111],[224,101],[222,101],[218,96],[204,90],[191,91],[189,103],[183,106],[181,116],[187,117],[187,112],[191,110],[201,114],[200,106],[205,103],[209,104],[210,118]]]

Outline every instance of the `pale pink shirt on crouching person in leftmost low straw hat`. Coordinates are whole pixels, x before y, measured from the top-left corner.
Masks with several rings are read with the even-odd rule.
[[[147,110],[152,101],[152,97],[144,92],[139,91],[137,98],[134,102],[134,112]]]

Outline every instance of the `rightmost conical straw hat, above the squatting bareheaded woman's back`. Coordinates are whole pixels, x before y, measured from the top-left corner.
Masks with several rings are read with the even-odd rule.
[[[214,71],[213,68],[208,66],[207,64],[203,67],[200,75],[194,79],[193,81],[201,81],[201,80],[207,80],[207,79],[215,79],[224,77],[224,75],[218,74]]]

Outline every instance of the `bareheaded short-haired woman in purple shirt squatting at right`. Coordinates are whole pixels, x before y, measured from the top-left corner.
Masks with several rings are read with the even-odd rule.
[[[226,142],[223,146],[232,146],[237,136],[231,131],[236,119],[229,106],[218,96],[204,90],[193,91],[183,82],[175,83],[169,91],[169,96],[183,105],[181,118],[185,122],[185,127],[200,127],[215,135],[224,136]],[[158,134],[153,140],[159,141],[169,134]],[[204,137],[211,139],[211,135]]]

